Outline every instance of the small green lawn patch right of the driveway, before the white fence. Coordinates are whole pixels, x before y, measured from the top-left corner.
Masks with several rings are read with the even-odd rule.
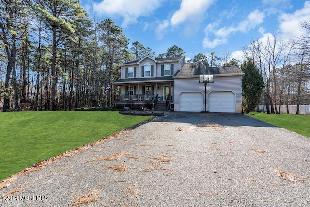
[[[310,137],[310,115],[295,114],[267,114],[252,112],[249,115],[261,121],[275,125],[277,127],[286,128],[298,134]]]

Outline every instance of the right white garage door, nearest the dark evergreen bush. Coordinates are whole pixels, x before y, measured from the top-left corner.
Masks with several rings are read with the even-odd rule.
[[[235,95],[231,91],[211,92],[209,94],[210,112],[234,113],[235,112]]]

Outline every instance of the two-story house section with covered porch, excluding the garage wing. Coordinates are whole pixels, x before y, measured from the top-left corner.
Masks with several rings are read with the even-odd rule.
[[[122,64],[121,78],[112,83],[113,87],[120,87],[120,95],[115,96],[114,104],[129,101],[143,104],[145,100],[173,102],[173,76],[184,64],[184,56],[161,59],[145,56]]]

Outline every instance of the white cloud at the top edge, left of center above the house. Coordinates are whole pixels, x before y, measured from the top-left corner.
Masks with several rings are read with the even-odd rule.
[[[124,18],[123,27],[136,23],[140,16],[149,16],[160,7],[163,0],[103,0],[93,3],[98,14],[117,15]]]

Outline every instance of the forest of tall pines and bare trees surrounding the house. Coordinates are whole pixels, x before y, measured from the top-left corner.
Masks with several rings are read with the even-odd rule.
[[[244,48],[265,81],[264,104],[309,104],[310,23],[294,41],[278,35]],[[185,55],[172,46],[155,53],[126,38],[111,19],[90,18],[74,0],[0,0],[0,111],[72,110],[111,106],[105,86],[120,76],[120,65],[145,55]],[[188,62],[237,65],[227,52],[198,53]],[[274,112],[274,111],[270,111]],[[276,110],[278,113],[278,110]]]

